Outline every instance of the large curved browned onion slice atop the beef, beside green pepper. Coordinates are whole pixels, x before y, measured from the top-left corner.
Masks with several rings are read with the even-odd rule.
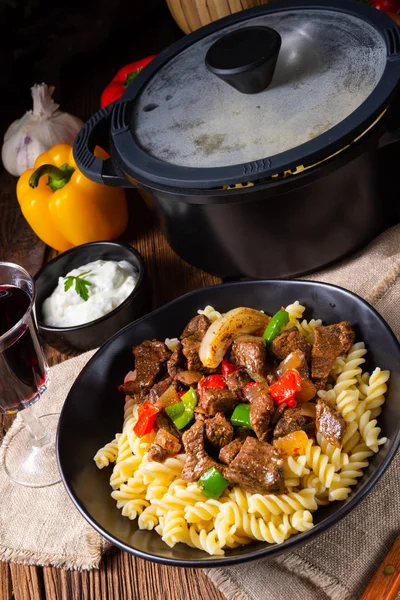
[[[244,334],[263,334],[270,317],[253,308],[230,310],[208,328],[200,345],[199,356],[205,367],[215,369],[232,342]]]

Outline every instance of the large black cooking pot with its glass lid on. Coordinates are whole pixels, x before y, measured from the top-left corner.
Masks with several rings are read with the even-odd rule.
[[[94,181],[136,185],[193,265],[299,275],[387,226],[377,152],[399,76],[399,28],[380,11],[264,5],[162,52],[86,123],[75,160]]]

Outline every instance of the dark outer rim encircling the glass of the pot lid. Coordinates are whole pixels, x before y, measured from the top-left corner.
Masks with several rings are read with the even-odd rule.
[[[132,132],[132,110],[141,91],[167,62],[197,41],[227,26],[268,12],[284,12],[296,8],[333,10],[353,15],[372,25],[381,34],[387,47],[384,73],[370,96],[355,111],[325,133],[306,143],[275,156],[245,164],[215,168],[181,167],[156,159],[140,147]],[[283,0],[279,3],[279,8],[274,4],[262,5],[220,19],[185,36],[161,52],[139,73],[127,88],[121,101],[117,102],[112,110],[110,137],[114,149],[113,155],[128,177],[152,182],[151,185],[174,189],[210,190],[226,185],[259,181],[276,173],[296,168],[297,165],[318,163],[350,144],[374,123],[382,110],[398,94],[399,79],[400,31],[390,17],[380,11],[365,4],[350,3],[346,0],[332,0],[329,5],[321,0],[308,0],[306,5],[299,0]]]

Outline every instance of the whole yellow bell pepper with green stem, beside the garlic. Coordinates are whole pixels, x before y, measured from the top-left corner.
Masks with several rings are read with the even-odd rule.
[[[95,155],[108,158],[96,148]],[[86,242],[113,240],[128,223],[122,189],[90,181],[77,168],[69,144],[57,144],[17,183],[22,214],[36,235],[63,252]]]

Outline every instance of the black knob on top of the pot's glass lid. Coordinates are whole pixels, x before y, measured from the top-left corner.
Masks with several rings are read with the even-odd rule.
[[[271,83],[281,36],[270,27],[242,27],[210,46],[206,67],[242,94],[258,94]]]

